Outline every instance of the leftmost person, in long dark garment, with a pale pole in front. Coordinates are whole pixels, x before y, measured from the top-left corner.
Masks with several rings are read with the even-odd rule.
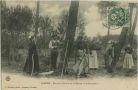
[[[33,73],[39,73],[38,53],[36,50],[36,41],[34,36],[30,38],[28,57],[24,66],[24,72],[29,73],[31,75]]]

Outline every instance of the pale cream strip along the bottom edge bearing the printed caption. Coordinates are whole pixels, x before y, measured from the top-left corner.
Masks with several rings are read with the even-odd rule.
[[[138,90],[136,77],[67,78],[2,73],[2,90]]]

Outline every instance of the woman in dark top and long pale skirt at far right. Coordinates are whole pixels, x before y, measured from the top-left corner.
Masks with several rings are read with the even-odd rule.
[[[132,47],[130,47],[130,44],[128,44],[128,46],[125,48],[125,53],[126,54],[124,58],[123,68],[132,69],[134,66],[133,57],[132,57],[133,49]]]

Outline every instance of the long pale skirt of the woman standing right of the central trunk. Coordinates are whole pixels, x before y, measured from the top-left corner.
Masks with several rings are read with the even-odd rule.
[[[92,50],[89,55],[89,68],[90,69],[98,69],[98,59],[96,50]]]

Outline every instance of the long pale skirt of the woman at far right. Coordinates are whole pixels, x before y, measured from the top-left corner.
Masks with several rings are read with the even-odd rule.
[[[124,58],[123,68],[131,69],[134,66],[132,54],[126,54]]]

